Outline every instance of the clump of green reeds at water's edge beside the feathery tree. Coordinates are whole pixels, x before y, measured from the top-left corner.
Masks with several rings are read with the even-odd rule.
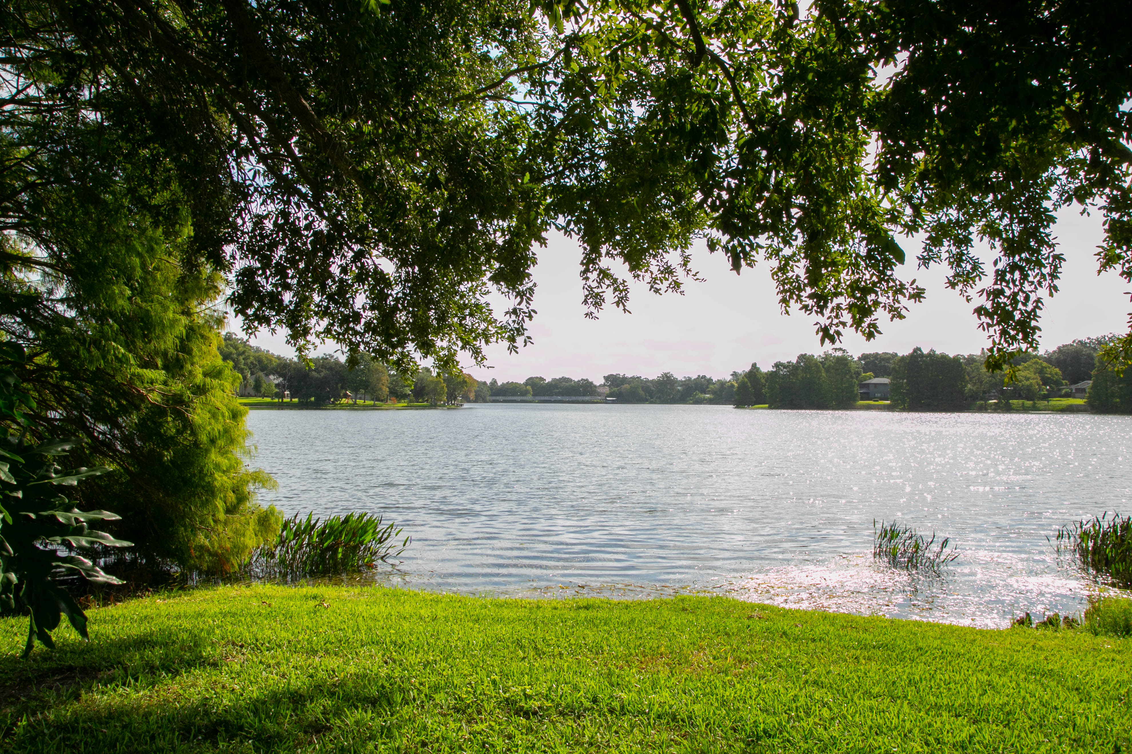
[[[410,537],[397,540],[401,529],[381,525],[372,513],[332,515],[325,521],[308,514],[283,521],[274,545],[252,553],[246,569],[256,578],[302,579],[361,571],[396,557]]]

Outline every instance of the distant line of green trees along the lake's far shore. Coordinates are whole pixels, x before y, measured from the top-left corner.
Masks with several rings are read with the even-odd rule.
[[[1099,413],[1132,414],[1132,370],[1121,373],[1098,357],[1115,336],[1073,340],[1044,354],[1028,353],[1013,359],[1012,374],[987,372],[984,354],[947,355],[914,348],[900,355],[876,352],[854,357],[842,348],[820,356],[799,354],[792,362],[777,362],[769,371],[752,364],[728,378],[705,374],[677,378],[663,372],[655,378],[607,374],[601,385],[592,380],[531,376],[523,382],[483,382],[466,373],[434,374],[421,369],[406,378],[369,356],[348,364],[336,356],[311,359],[309,366],[248,344],[233,333],[224,336],[221,357],[243,380],[245,391],[265,398],[312,404],[396,400],[444,404],[487,402],[492,396],[606,397],[619,404],[711,404],[770,408],[849,408],[859,399],[859,385],[873,378],[891,380],[894,407],[907,410],[957,410],[972,402],[1001,398],[1035,401],[1057,397],[1069,385],[1092,380],[1088,402]]]

